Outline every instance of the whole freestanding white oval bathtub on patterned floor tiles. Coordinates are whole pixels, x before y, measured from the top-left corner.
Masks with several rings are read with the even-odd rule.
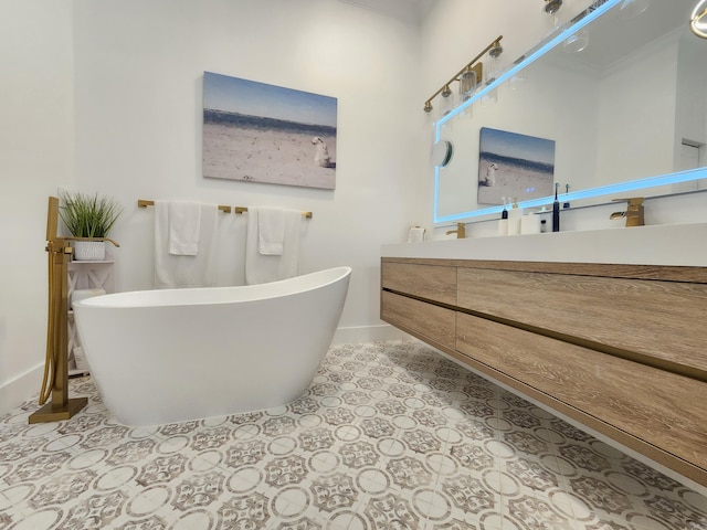
[[[156,425],[299,398],[331,343],[350,274],[117,293],[73,307],[108,410],[128,425]]]

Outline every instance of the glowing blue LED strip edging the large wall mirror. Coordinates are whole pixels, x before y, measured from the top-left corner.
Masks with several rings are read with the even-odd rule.
[[[469,99],[464,102],[462,105],[456,107],[454,110],[446,114],[444,117],[440,118],[435,124],[434,131],[434,141],[440,141],[442,126],[456,116],[460,113],[463,113],[469,105],[474,102],[479,100],[489,92],[496,89],[498,86],[504,84],[506,81],[510,80],[518,72],[524,70],[526,66],[535,63],[538,59],[544,56],[550,50],[555,49],[562,42],[564,42],[568,38],[576,34],[582,28],[591,23],[597,18],[601,17],[603,13],[623,2],[623,0],[608,0],[605,3],[597,8],[594,11],[587,13],[579,21],[573,23],[571,26],[560,31],[558,35],[550,39],[547,43],[539,46],[535,52],[528,54],[523,61],[518,61],[514,66],[505,71],[502,75],[499,75],[493,83],[489,83],[478,92],[476,92]],[[455,146],[455,148],[458,148]],[[454,221],[462,221],[465,219],[479,218],[483,215],[492,215],[498,214],[503,211],[503,205],[482,208],[477,210],[469,210],[467,212],[455,213],[451,215],[439,215],[437,204],[439,204],[439,192],[440,192],[440,168],[436,166],[434,168],[434,203],[433,203],[433,222],[435,224],[439,223],[449,223]],[[606,195],[610,193],[622,193],[626,191],[640,190],[644,188],[652,188],[655,186],[665,186],[665,184],[676,184],[679,182],[688,182],[693,180],[699,180],[707,178],[707,168],[697,168],[687,171],[679,171],[675,173],[665,173],[654,177],[647,177],[644,179],[630,180],[626,182],[619,182],[614,184],[600,186],[597,188],[589,188],[585,190],[573,191],[570,193],[562,193],[562,202],[577,201],[580,199],[590,199],[600,195]],[[531,199],[528,201],[523,201],[518,203],[519,208],[540,208],[548,204],[551,204],[553,201],[553,195],[542,197],[539,199]]]

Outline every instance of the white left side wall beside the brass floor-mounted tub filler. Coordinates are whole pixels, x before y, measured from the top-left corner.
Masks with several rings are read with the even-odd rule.
[[[46,205],[73,182],[71,2],[0,0],[0,413],[39,392]]]

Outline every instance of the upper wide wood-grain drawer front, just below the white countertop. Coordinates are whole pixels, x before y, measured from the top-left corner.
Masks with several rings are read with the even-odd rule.
[[[460,268],[458,307],[707,380],[707,284]]]

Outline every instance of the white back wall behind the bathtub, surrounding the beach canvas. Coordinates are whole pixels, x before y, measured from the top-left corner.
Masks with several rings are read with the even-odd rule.
[[[416,28],[329,0],[76,1],[77,179],[120,198],[118,288],[149,288],[152,211],[137,199],[314,212],[302,272],[355,267],[342,327],[378,324],[377,243],[400,239],[418,141],[399,89],[418,73]],[[203,71],[338,98],[336,191],[204,179]],[[223,215],[219,283],[243,283],[246,215]]]

